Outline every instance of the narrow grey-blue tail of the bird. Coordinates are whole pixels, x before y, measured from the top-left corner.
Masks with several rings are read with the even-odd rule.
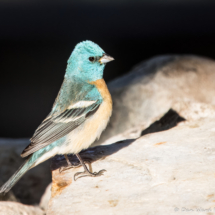
[[[18,180],[31,168],[32,163],[29,162],[30,158],[19,167],[19,169],[9,178],[9,180],[0,187],[0,193],[7,193]]]

